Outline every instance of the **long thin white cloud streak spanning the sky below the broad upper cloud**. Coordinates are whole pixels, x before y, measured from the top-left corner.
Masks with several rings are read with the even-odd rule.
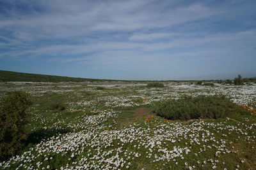
[[[135,39],[156,39],[161,36],[164,37],[172,37],[173,34],[147,34],[136,35]],[[244,48],[246,50],[246,46],[253,45],[256,38],[256,30],[246,31],[246,32],[236,32],[236,33],[226,33],[226,34],[207,34],[206,36],[202,36],[201,38],[191,37],[186,38],[186,34],[181,37],[171,39],[165,42],[127,42],[127,41],[110,41],[110,42],[99,42],[99,43],[81,43],[79,45],[49,45],[49,46],[40,46],[37,48],[31,48],[28,50],[16,50],[12,52],[2,53],[3,55],[9,55],[13,57],[19,57],[21,55],[70,55],[71,59],[61,59],[61,62],[72,62],[77,61],[79,59],[84,60],[83,57],[75,57],[76,55],[90,55],[90,53],[96,53],[95,55],[99,55],[102,52],[112,51],[113,53],[118,53],[120,58],[122,55],[127,53],[127,51],[131,50],[134,53],[140,53],[141,55],[147,54],[148,52],[165,52],[168,50],[168,53],[184,53],[184,50],[193,51],[191,48],[195,48],[195,50],[201,51],[202,49],[209,50],[210,53],[212,50],[218,50],[218,48],[225,48],[226,50],[234,50],[238,46]],[[200,46],[204,46],[204,48],[200,49]],[[206,46],[206,47],[205,47]],[[183,49],[183,52],[177,50],[179,48]],[[216,49],[217,48],[217,49]],[[173,51],[173,52],[172,52]],[[111,55],[113,54],[111,53]],[[124,54],[122,54],[124,53]],[[207,52],[205,52],[207,53]],[[189,54],[186,53],[187,55]],[[109,53],[105,53],[105,57],[111,57]],[[157,54],[154,54],[157,56]],[[100,55],[103,57],[103,55]],[[74,57],[74,59],[72,59]],[[132,58],[132,56],[131,56]]]

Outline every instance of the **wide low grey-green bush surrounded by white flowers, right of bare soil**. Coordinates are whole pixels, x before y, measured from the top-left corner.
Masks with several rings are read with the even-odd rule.
[[[240,107],[225,96],[184,96],[155,104],[154,112],[172,120],[223,118],[237,113]]]

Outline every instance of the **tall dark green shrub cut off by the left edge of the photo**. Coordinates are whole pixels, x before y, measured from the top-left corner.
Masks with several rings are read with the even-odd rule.
[[[9,92],[0,105],[0,160],[13,156],[27,138],[24,125],[28,122],[26,109],[31,102],[26,92]]]

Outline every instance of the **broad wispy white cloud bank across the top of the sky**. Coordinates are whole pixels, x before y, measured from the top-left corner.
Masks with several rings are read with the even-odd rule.
[[[13,38],[28,41],[33,38],[75,38],[98,31],[136,31],[182,24],[215,15],[215,11],[200,4],[163,10],[150,1],[106,1],[99,4],[76,4],[47,1],[50,10],[34,15],[12,13],[3,17],[0,28],[13,31]],[[163,11],[161,11],[163,10]],[[159,13],[161,11],[161,13]],[[15,34],[14,34],[15,33]],[[79,38],[78,38],[79,39]]]

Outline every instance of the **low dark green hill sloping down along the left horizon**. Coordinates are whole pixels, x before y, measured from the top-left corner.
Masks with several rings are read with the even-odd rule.
[[[83,82],[83,81],[117,81],[92,78],[73,78],[67,76],[50,76],[44,74],[18,73],[0,70],[0,81],[32,81],[32,82]]]

